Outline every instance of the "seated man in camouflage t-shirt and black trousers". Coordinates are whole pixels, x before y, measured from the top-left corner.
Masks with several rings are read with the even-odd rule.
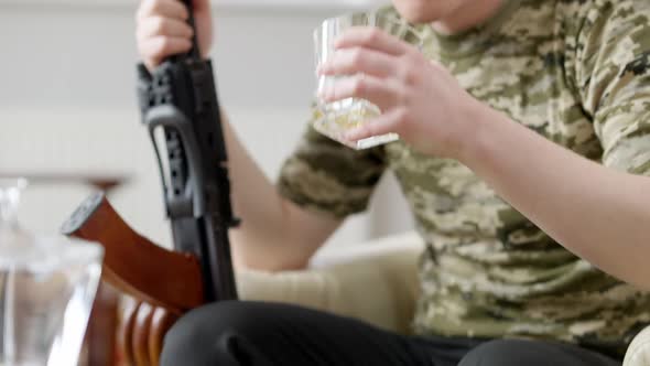
[[[394,172],[427,243],[421,337],[286,305],[217,304],[174,327],[163,364],[618,365],[650,323],[639,290],[650,287],[650,3],[459,0],[448,3],[490,15],[431,25],[427,11],[445,2],[393,2],[380,11],[426,23],[421,50],[350,31],[319,72],[365,77],[321,97],[381,108],[350,140],[402,140],[356,151],[310,128],[278,186],[339,223]],[[488,342],[503,338],[529,341]]]

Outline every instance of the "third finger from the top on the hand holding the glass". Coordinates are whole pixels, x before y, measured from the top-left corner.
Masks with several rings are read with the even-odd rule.
[[[371,101],[381,110],[392,108],[403,99],[399,84],[367,75],[343,78],[325,89],[321,97],[326,103],[361,98]]]

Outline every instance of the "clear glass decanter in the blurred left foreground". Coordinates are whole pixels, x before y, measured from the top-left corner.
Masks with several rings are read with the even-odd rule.
[[[0,366],[75,366],[102,248],[20,227],[24,180],[0,180]]]

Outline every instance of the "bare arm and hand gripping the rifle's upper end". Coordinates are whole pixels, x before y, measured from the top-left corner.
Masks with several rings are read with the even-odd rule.
[[[208,0],[195,0],[194,12],[199,47],[205,55],[212,43]],[[186,19],[187,10],[177,0],[144,0],[140,4],[138,47],[149,68],[189,50],[193,30]],[[223,116],[235,213],[243,222],[231,232],[236,266],[263,270],[304,267],[340,220],[304,211],[281,197]]]

